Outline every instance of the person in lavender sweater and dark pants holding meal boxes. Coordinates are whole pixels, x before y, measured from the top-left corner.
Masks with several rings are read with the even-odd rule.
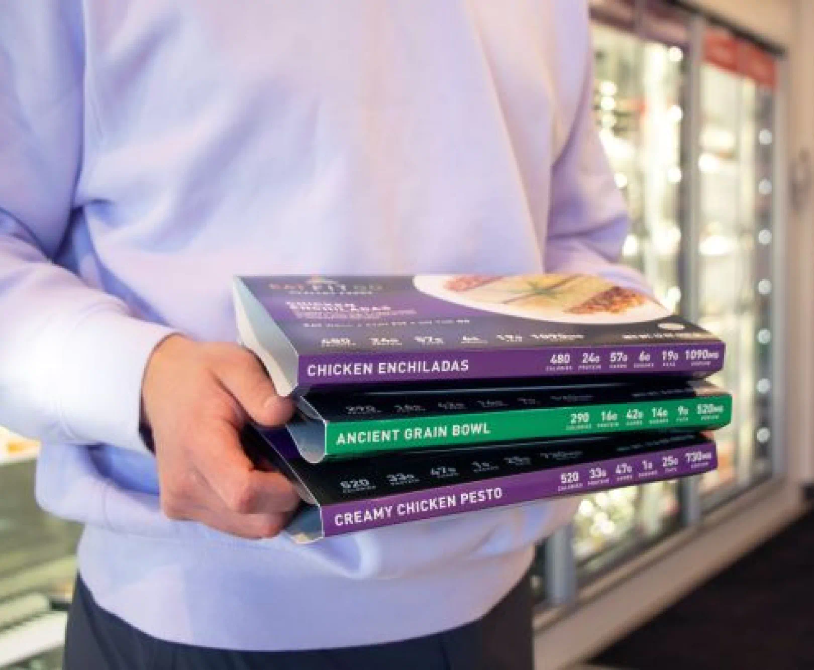
[[[591,59],[575,0],[2,3],[0,423],[85,523],[68,668],[531,666],[574,502],[293,544],[230,280],[637,282]]]

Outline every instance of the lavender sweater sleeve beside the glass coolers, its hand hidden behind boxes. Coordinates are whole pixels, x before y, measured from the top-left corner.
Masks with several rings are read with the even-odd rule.
[[[601,274],[622,286],[650,293],[636,270],[618,263],[630,220],[593,119],[593,58],[588,11],[579,35],[584,43],[579,101],[567,142],[551,174],[545,271]],[[580,39],[584,37],[584,39]]]

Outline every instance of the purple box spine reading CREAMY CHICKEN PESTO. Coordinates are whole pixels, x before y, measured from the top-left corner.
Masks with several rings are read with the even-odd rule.
[[[710,441],[681,449],[635,453],[625,458],[525,472],[494,480],[340,502],[320,510],[322,528],[326,537],[343,535],[395,523],[672,480],[715,470],[716,467],[716,448]]]

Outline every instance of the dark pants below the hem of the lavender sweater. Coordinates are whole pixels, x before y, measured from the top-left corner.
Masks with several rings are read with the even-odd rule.
[[[427,598],[431,598],[430,595]],[[164,642],[94,602],[81,579],[65,670],[532,670],[532,594],[523,579],[488,615],[446,633],[318,651],[225,651]]]

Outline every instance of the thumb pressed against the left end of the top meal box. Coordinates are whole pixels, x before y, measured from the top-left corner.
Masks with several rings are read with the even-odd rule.
[[[293,401],[278,395],[260,361],[248,350],[231,353],[217,366],[216,374],[256,423],[282,426],[294,413]]]

